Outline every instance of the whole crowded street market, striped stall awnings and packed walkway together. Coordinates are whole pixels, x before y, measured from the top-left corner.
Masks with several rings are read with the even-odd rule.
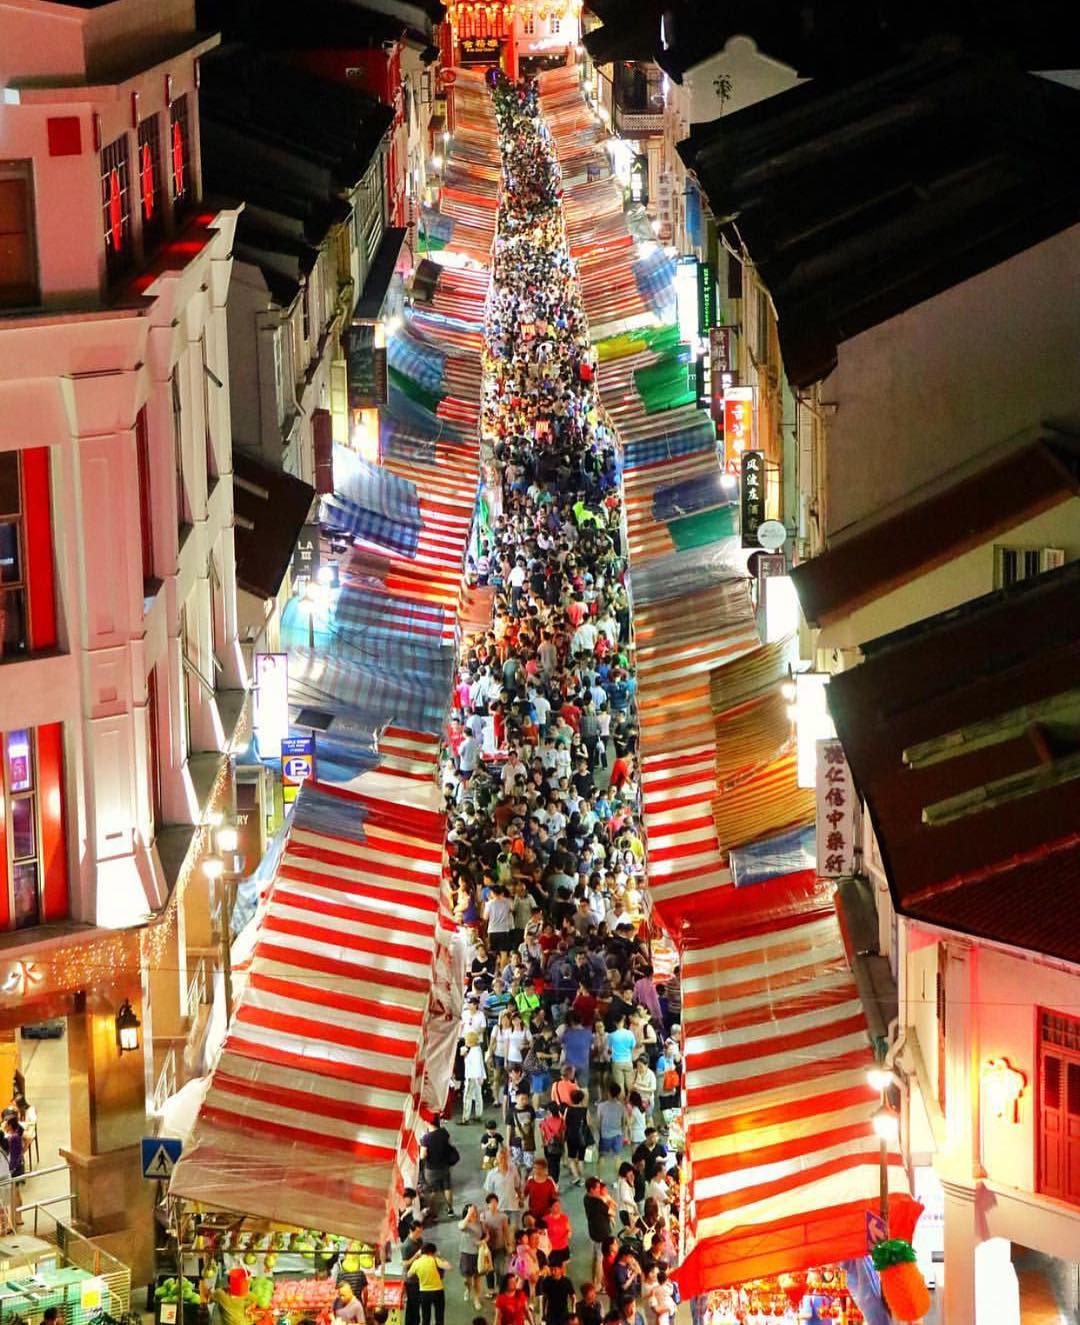
[[[290,645],[351,726],[237,939],[186,1272],[298,1321],[880,1325],[879,1181],[914,1216],[673,264],[572,69],[460,70],[455,118],[398,419]]]

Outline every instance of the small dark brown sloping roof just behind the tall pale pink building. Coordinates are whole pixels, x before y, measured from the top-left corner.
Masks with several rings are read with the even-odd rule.
[[[232,489],[236,583],[257,598],[274,598],[311,510],[315,489],[240,450],[232,457]]]

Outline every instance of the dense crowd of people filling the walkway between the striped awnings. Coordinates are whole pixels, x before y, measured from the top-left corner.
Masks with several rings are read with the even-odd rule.
[[[400,1212],[405,1325],[443,1325],[447,1220],[462,1296],[494,1325],[673,1325],[680,987],[644,909],[619,456],[537,85],[492,82],[504,180],[472,571],[494,610],[462,645],[443,765],[466,998],[445,1121]],[[447,1121],[477,1130],[455,1141]],[[482,1203],[455,1210],[459,1162],[482,1170]]]

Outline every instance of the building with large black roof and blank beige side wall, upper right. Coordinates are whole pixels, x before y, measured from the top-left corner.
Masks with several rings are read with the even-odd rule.
[[[1016,107],[1004,126],[1002,89]],[[1080,415],[1080,327],[1056,297],[1080,203],[1051,147],[1079,129],[1072,89],[937,45],[855,82],[814,80],[682,146],[775,313],[796,398],[784,478],[799,558],[987,448]]]

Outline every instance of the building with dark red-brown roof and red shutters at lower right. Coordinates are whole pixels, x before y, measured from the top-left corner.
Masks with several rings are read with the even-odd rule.
[[[1077,608],[1073,560],[864,641],[828,688],[897,917],[885,1063],[945,1325],[1077,1305]]]

